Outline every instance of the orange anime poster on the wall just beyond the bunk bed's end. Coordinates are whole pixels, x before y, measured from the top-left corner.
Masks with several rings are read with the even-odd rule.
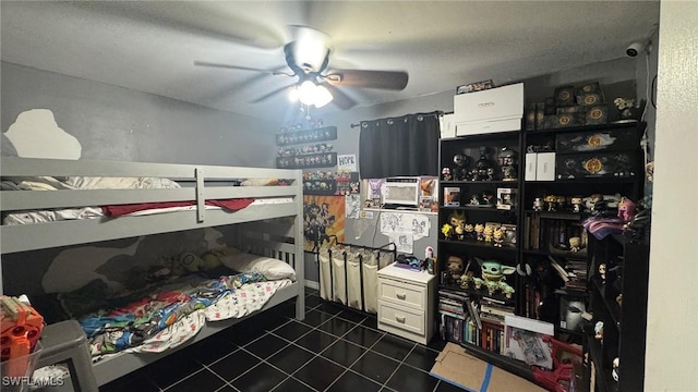
[[[345,242],[345,197],[303,195],[305,252],[317,253],[335,237]]]

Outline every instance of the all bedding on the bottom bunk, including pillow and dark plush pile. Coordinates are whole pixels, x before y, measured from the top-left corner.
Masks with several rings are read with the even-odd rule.
[[[214,267],[204,272],[204,265]],[[203,258],[183,254],[178,264],[156,266],[145,273],[149,283],[137,289],[115,293],[95,279],[58,295],[61,313],[81,323],[95,359],[176,347],[207,322],[261,309],[296,281],[290,265],[237,248],[210,250]]]

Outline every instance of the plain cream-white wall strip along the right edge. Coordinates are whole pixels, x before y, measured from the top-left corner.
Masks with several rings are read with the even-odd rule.
[[[696,391],[698,2],[662,1],[660,37],[645,389]]]

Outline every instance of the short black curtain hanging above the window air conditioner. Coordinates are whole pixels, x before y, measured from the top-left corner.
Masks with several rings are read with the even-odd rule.
[[[362,179],[438,175],[438,112],[361,122]]]

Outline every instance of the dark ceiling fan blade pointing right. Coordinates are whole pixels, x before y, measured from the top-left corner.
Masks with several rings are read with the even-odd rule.
[[[405,71],[330,70],[324,78],[335,86],[401,90],[409,75]]]

